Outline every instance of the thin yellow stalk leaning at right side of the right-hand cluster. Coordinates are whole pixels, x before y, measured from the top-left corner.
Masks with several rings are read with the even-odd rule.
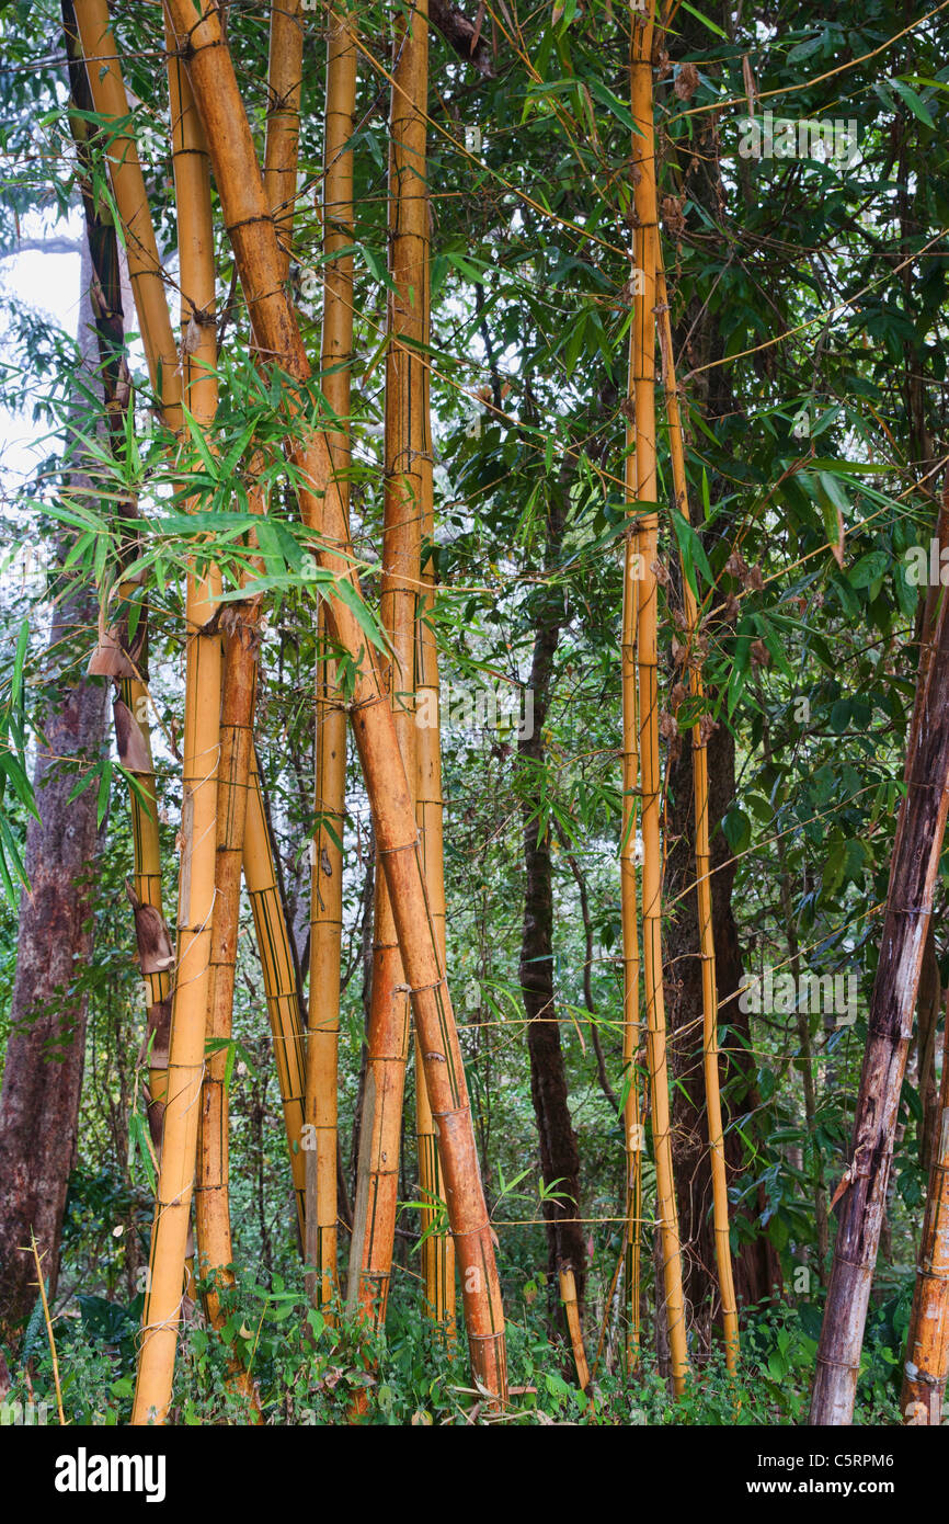
[[[685,477],[685,448],[682,442],[682,418],[675,375],[672,347],[672,319],[669,294],[663,268],[661,241],[657,238],[657,314],[660,320],[660,349],[663,354],[663,376],[666,384],[666,415],[669,419],[669,450],[672,456],[672,485],[675,506],[689,521],[689,482]],[[682,562],[682,600],[685,605],[685,631],[689,637],[689,686],[692,696],[704,696],[702,668],[696,651],[699,614],[696,596],[692,591]],[[719,1295],[722,1300],[722,1326],[725,1334],[725,1364],[734,1372],[739,1353],[739,1312],[734,1295],[731,1268],[731,1241],[728,1233],[728,1180],[725,1175],[725,1134],[722,1128],[722,1097],[719,1088],[719,1029],[717,1029],[717,983],[714,975],[714,934],[711,925],[711,850],[708,844],[708,733],[710,725],[701,715],[692,730],[692,779],[695,797],[695,870],[699,919],[699,957],[702,962],[702,1055],[705,1071],[705,1114],[708,1122],[708,1152],[711,1163],[711,1201],[714,1222],[714,1257],[719,1273]]]

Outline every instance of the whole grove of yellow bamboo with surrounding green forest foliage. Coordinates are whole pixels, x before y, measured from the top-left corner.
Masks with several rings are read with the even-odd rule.
[[[385,1422],[399,1359],[411,1423],[941,1420],[946,23],[781,9],[12,23],[3,238],[84,273],[0,689],[5,1391],[85,1125],[122,1422]]]

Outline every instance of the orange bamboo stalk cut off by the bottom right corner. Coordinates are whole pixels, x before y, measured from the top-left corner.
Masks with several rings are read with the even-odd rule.
[[[915,1425],[943,1422],[949,1372],[949,1001],[943,1029],[940,1119],[940,1135],[929,1170],[900,1396],[905,1422]]]

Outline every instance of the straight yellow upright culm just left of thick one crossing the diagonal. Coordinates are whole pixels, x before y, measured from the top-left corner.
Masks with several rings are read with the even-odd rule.
[[[331,12],[326,44],[323,137],[323,396],[337,427],[326,442],[340,511],[349,521],[349,411],[353,331],[352,151],[356,110],[355,17]],[[332,256],[332,258],[331,258]],[[306,1122],[315,1131],[308,1155],[306,1262],[317,1271],[320,1303],[337,1292],[337,1134],[340,1067],[340,951],[343,936],[343,831],[346,820],[346,704],[326,628],[317,613],[315,831],[311,875],[309,1032]]]

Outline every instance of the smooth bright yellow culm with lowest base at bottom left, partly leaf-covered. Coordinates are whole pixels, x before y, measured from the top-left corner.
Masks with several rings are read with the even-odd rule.
[[[190,334],[189,343],[183,344],[181,367],[187,407],[197,427],[203,428],[212,424],[216,410],[210,169],[187,78],[171,50],[169,91],[181,261],[181,323],[183,331]],[[209,626],[213,629],[212,619],[219,608],[218,596],[216,575],[198,579],[189,573],[178,968],[172,1003],[158,1199],[149,1257],[149,1286],[142,1315],[133,1423],[163,1423],[171,1404],[195,1183],[215,899],[221,643],[215,632],[209,632]]]

